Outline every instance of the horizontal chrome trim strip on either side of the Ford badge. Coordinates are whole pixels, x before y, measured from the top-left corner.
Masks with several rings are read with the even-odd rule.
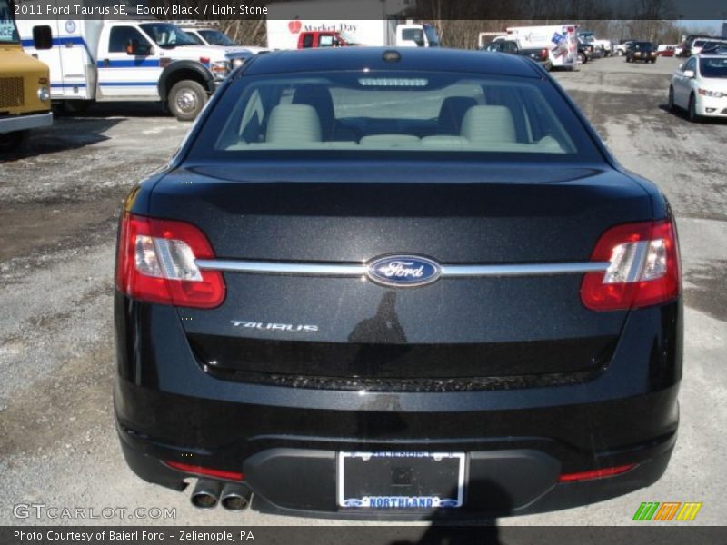
[[[368,265],[344,263],[280,263],[233,260],[198,259],[200,269],[252,272],[255,274],[294,274],[313,276],[364,276]],[[542,276],[552,274],[578,274],[602,272],[608,262],[584,263],[527,263],[512,265],[441,265],[442,276],[464,278],[473,276]]]

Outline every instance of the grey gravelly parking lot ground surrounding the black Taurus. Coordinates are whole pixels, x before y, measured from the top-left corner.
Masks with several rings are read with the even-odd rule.
[[[680,437],[648,490],[498,524],[619,525],[642,501],[701,501],[692,524],[722,524],[727,487],[727,123],[692,124],[665,108],[680,60],[608,58],[555,73],[627,168],[658,183],[677,215],[685,288]],[[175,508],[175,519],[112,523],[301,524],[222,509],[153,486],[126,467],[112,408],[115,223],[125,194],[174,153],[189,124],[155,104],[97,105],[56,117],[25,154],[0,160],[0,524],[19,503]],[[648,415],[633,415],[648,418]]]

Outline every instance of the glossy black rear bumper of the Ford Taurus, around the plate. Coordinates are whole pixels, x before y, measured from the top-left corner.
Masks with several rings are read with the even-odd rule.
[[[194,359],[174,308],[116,299],[115,412],[144,480],[184,490],[176,461],[244,473],[253,508],[362,519],[483,517],[555,510],[649,486],[679,420],[682,302],[631,312],[591,381],[495,391],[313,390],[215,379]],[[144,332],[127,338],[124,329]],[[335,498],[339,451],[466,454],[461,509],[360,511]],[[593,481],[564,473],[636,464]]]

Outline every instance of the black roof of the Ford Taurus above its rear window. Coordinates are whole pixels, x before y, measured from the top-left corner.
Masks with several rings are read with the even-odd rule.
[[[395,51],[399,61],[384,61],[383,54]],[[541,78],[543,73],[524,57],[444,47],[351,46],[274,51],[255,57],[245,75],[294,72],[406,70],[422,72],[473,72]]]

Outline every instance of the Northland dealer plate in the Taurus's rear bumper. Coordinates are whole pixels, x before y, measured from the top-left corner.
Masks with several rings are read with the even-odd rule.
[[[462,507],[463,452],[339,452],[338,505],[379,510]]]

